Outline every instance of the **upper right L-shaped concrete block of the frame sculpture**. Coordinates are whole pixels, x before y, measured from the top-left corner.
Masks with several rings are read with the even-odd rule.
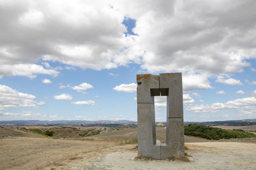
[[[167,118],[183,117],[182,74],[160,74],[160,92],[165,96],[168,92]],[[168,90],[166,90],[168,89]]]

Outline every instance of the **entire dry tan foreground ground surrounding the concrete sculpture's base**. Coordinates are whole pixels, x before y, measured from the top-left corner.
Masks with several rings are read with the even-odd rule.
[[[136,145],[106,141],[0,139],[0,169],[255,169],[256,143],[186,143],[190,162],[135,159]]]

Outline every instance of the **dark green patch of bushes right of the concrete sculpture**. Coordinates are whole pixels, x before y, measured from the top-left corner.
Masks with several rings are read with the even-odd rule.
[[[184,134],[214,140],[230,138],[256,138],[255,134],[245,132],[241,129],[228,130],[196,124],[186,125],[184,127]]]

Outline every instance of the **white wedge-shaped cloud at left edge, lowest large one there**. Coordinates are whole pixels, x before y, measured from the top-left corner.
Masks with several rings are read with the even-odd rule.
[[[0,108],[35,107],[35,96],[0,85]]]

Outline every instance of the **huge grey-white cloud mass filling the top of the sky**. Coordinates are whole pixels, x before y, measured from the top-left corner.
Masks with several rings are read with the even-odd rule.
[[[43,68],[38,72],[15,67],[38,60],[96,70],[135,62],[149,73],[182,72],[184,82],[189,82],[185,74],[193,72],[198,85],[184,83],[190,91],[209,89],[212,76],[241,72],[250,66],[247,59],[255,59],[252,0],[24,0],[4,1],[0,8],[0,65],[11,68],[1,70],[0,76],[58,74],[47,64],[36,65]],[[125,17],[136,20],[136,35],[125,36]],[[225,78],[221,83],[241,81]]]

